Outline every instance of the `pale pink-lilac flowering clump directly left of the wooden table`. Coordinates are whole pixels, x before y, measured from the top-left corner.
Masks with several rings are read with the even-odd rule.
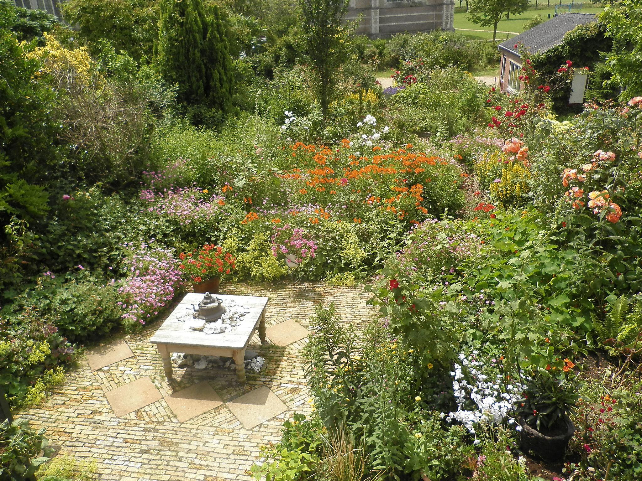
[[[134,330],[169,305],[182,281],[173,249],[142,244],[132,248],[127,264],[130,274],[118,290],[123,297],[118,305],[125,310],[123,325]]]

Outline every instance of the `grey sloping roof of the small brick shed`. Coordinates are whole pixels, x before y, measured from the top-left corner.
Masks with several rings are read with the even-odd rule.
[[[561,44],[566,32],[595,20],[593,13],[560,13],[557,17],[534,26],[517,37],[508,38],[499,44],[499,50],[510,51],[519,56],[515,44],[523,44],[531,55],[542,53]]]

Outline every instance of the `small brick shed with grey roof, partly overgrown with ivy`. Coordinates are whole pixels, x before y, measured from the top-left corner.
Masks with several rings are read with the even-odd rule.
[[[572,35],[571,33],[575,33]],[[604,42],[604,35],[592,13],[560,13],[549,21],[509,38],[499,44],[501,55],[499,89],[514,93],[521,89],[519,71],[522,67],[518,47],[524,46],[532,55],[535,69],[553,73],[560,63],[571,60],[577,67],[592,67],[599,60],[599,51],[588,40]],[[593,48],[592,48],[593,47]],[[576,76],[566,97],[568,104],[581,104],[588,76]]]

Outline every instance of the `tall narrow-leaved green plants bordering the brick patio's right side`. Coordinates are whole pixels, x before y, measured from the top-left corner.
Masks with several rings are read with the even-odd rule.
[[[440,414],[429,409],[433,393],[444,386],[434,376],[419,375],[423,353],[406,350],[378,323],[360,339],[333,304],[317,307],[312,321],[316,333],[306,346],[307,375],[325,426],[345,423],[355,445],[363,442],[368,469],[386,478],[458,473],[471,446],[462,444],[463,428],[443,428]]]

